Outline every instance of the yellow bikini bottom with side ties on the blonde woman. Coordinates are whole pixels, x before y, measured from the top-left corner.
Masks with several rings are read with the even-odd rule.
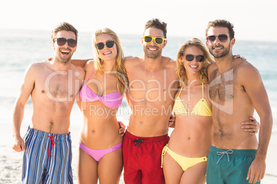
[[[207,157],[198,157],[198,158],[189,158],[189,157],[183,157],[180,154],[177,154],[176,152],[173,152],[168,148],[166,145],[163,147],[163,152],[162,152],[162,160],[161,160],[161,168],[163,168],[163,156],[165,155],[165,152],[170,154],[170,156],[178,163],[183,171],[187,170],[188,168],[196,165],[197,163],[201,163],[203,161],[207,161]]]

